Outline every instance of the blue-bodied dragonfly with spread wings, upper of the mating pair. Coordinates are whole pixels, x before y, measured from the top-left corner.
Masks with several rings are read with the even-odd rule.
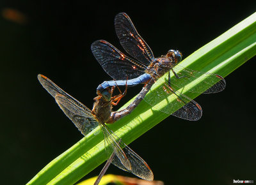
[[[179,50],[169,50],[166,55],[154,57],[147,43],[141,38],[134,27],[131,18],[126,13],[118,13],[115,17],[115,30],[124,50],[131,56],[111,45],[108,41],[98,40],[92,43],[92,53],[100,63],[104,71],[115,80],[105,81],[97,87],[103,91],[111,85],[137,85],[147,84],[153,80],[159,88],[150,91],[151,96],[142,97],[152,107],[166,114],[172,114],[182,119],[196,121],[202,116],[202,108],[196,101],[180,93],[189,91],[192,93],[218,93],[225,89],[226,82],[223,77],[213,73],[190,70],[180,65],[182,54]],[[168,78],[163,79],[165,73]],[[173,73],[171,77],[171,73]],[[125,81],[125,79],[128,79]],[[200,86],[191,87],[189,82],[200,81]],[[181,90],[180,90],[181,89]],[[145,94],[145,93],[144,93]],[[173,98],[172,103],[166,107],[159,107],[159,100]],[[174,107],[181,107],[173,112]]]

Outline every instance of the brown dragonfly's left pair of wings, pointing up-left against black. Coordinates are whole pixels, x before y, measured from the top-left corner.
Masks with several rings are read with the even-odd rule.
[[[65,91],[44,75],[38,75],[38,80],[48,93],[55,98],[61,110],[74,122],[83,135],[87,135],[99,125],[97,120],[93,117],[91,110],[85,107],[83,103],[80,103],[75,98],[65,93]]]

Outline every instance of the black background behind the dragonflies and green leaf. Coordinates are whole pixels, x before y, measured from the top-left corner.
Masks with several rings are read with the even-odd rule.
[[[83,137],[36,75],[51,78],[92,108],[97,85],[111,78],[94,59],[90,45],[104,39],[122,50],[113,22],[117,13],[125,11],[131,17],[156,57],[173,48],[185,58],[251,15],[256,5],[192,2],[1,1],[1,182],[25,184]],[[4,8],[20,11],[24,18],[12,18]],[[196,98],[204,108],[200,121],[170,116],[132,142],[131,148],[147,161],[156,180],[256,182],[254,66],[255,58],[225,78],[225,91]],[[139,91],[129,89],[126,100]],[[85,178],[99,174],[101,168]],[[108,174],[134,177],[113,165]]]

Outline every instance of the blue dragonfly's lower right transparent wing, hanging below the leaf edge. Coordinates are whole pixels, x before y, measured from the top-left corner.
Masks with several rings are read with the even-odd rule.
[[[200,119],[202,116],[202,108],[198,103],[179,91],[175,91],[175,89],[166,83],[161,82],[161,79],[156,82],[156,85],[156,89],[150,89],[150,93],[144,98],[148,104],[161,112],[172,114],[182,119],[189,121]],[[173,112],[173,109],[177,107],[182,108]]]

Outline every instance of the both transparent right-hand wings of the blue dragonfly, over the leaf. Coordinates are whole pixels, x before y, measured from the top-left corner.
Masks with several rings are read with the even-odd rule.
[[[145,96],[144,100],[152,107],[157,108],[157,110],[161,110],[166,114],[172,114],[189,121],[200,119],[202,116],[202,108],[200,105],[191,100],[188,96],[180,93],[180,90],[177,91],[177,89],[199,94],[218,93],[225,89],[226,83],[224,78],[212,73],[189,70],[182,66],[175,66],[173,71],[179,77],[173,76],[172,78],[168,78],[168,80],[166,79],[165,82],[163,82],[162,79],[159,79],[158,81],[155,80],[156,85],[159,84],[157,85],[157,89],[150,90],[150,96]],[[172,71],[170,71],[170,73],[172,73]],[[157,74],[155,75],[157,76]],[[200,85],[189,85],[190,82],[200,82]],[[163,106],[163,103],[159,103],[159,100],[163,100],[166,103],[166,106]],[[182,108],[172,113],[173,108],[175,107]]]

